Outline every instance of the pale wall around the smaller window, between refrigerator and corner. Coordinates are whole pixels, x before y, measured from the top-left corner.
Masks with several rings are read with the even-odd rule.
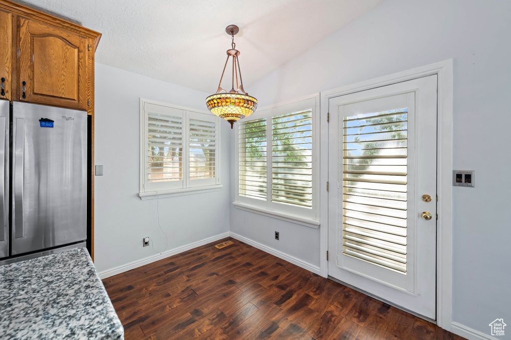
[[[156,252],[182,247],[229,231],[229,142],[231,130],[221,122],[220,191],[142,201],[140,169],[140,97],[207,110],[208,94],[96,64],[95,265],[98,272],[154,256],[142,238],[154,241]]]

